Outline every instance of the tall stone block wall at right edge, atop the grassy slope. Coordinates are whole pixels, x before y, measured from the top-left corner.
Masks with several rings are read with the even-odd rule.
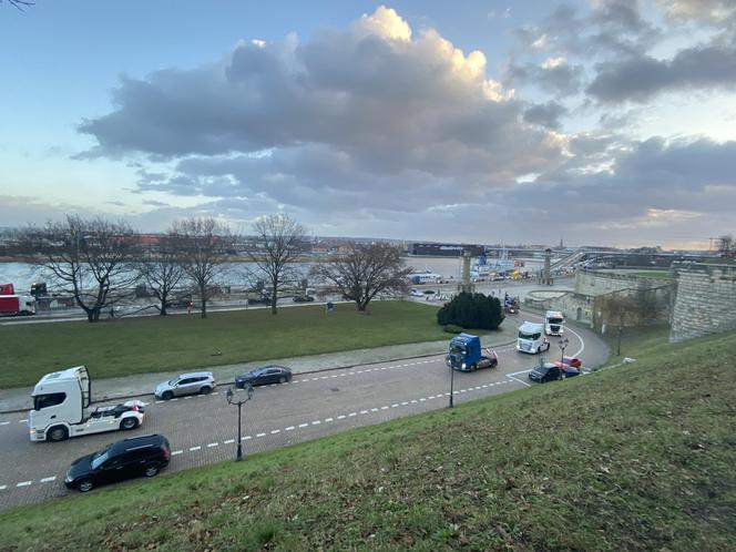
[[[669,341],[736,329],[736,266],[673,263]]]

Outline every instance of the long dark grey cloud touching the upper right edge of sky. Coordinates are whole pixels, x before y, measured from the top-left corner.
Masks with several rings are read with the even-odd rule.
[[[587,93],[602,102],[647,101],[663,91],[683,89],[734,90],[736,48],[706,45],[682,50],[672,60],[638,57],[596,67]]]

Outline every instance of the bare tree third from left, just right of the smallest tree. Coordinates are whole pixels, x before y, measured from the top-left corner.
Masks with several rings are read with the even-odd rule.
[[[207,317],[216,277],[222,274],[233,236],[224,224],[213,217],[175,221],[170,232],[178,254],[178,263],[197,289],[202,318]]]

